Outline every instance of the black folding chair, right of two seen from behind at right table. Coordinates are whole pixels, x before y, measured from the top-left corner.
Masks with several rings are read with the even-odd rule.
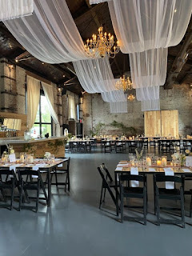
[[[158,182],[174,182],[174,189],[167,190],[164,187],[158,187]],[[180,188],[176,188],[176,184],[180,184]],[[185,210],[184,210],[184,178],[178,176],[166,176],[162,174],[154,174],[154,209],[157,213],[157,224],[170,223],[170,224],[182,224],[185,227]],[[178,207],[160,207],[159,200],[179,200],[181,202],[181,208]],[[160,218],[160,210],[181,210],[182,220],[178,219],[162,219]]]

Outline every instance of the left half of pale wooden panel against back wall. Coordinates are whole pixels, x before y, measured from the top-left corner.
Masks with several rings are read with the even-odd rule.
[[[147,111],[144,113],[145,135],[155,137],[161,134],[161,114],[160,111]]]

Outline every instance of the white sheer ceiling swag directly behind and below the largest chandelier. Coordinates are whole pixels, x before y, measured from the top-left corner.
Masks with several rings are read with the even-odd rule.
[[[89,94],[115,90],[115,80],[109,58],[73,62],[82,88]]]

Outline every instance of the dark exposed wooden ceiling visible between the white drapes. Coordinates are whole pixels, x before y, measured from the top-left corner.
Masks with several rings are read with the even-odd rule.
[[[110,12],[106,2],[90,6],[89,0],[66,0],[83,40],[96,34],[98,26],[102,24],[104,30],[114,34]],[[192,83],[192,18],[182,42],[178,46],[169,48],[167,62],[167,78],[165,89],[172,88],[174,83]],[[186,58],[186,54],[187,58]],[[26,70],[38,74],[62,86],[66,90],[81,94],[83,89],[75,75],[72,63],[47,64],[31,56],[10,34],[6,26],[0,22],[0,58],[7,58],[15,63],[15,58],[25,59],[17,63]],[[110,59],[114,78],[130,71],[129,56],[119,52],[114,59]]]

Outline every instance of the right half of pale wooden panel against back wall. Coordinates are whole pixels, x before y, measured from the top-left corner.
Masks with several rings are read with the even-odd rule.
[[[178,136],[178,110],[162,110],[162,136]]]

